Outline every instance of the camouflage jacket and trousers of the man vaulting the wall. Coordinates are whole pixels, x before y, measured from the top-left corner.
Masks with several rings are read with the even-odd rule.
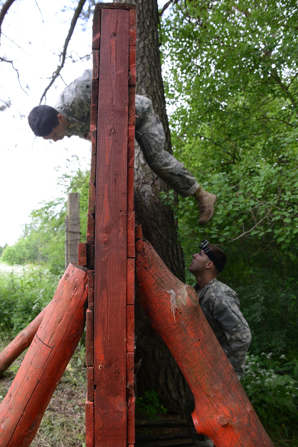
[[[69,122],[65,135],[85,138],[90,131],[92,70],[85,70],[63,90],[53,105]],[[164,149],[166,137],[152,103],[145,96],[136,95],[136,133],[145,160],[150,168],[182,197],[193,195],[199,188],[195,177]]]

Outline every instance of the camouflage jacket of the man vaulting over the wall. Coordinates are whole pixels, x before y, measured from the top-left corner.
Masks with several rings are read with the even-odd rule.
[[[91,93],[92,93],[92,70],[87,69],[83,75],[73,82],[70,82],[58,100],[53,105],[58,113],[62,114],[69,122],[65,135],[70,138],[78,135],[85,138],[85,134],[90,131],[91,118]],[[142,112],[142,103],[147,98],[136,95],[136,127]],[[147,100],[148,101],[148,100]]]

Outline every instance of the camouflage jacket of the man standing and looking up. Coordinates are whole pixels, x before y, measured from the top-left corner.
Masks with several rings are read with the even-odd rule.
[[[202,290],[197,284],[195,291],[211,329],[240,379],[244,375],[245,354],[252,336],[240,312],[236,292],[216,278],[211,279]]]

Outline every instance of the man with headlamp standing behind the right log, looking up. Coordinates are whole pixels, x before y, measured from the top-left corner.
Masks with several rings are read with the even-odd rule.
[[[217,275],[224,270],[226,255],[224,250],[216,245],[209,245],[209,242],[204,240],[199,253],[193,254],[192,257],[188,270],[195,275],[197,280],[195,291],[199,296],[199,305],[240,380],[244,375],[245,354],[252,336],[248,323],[240,312],[236,292],[216,279]],[[195,431],[191,417],[194,409],[195,399],[189,388],[186,395],[185,415],[193,445],[211,447],[212,441]]]

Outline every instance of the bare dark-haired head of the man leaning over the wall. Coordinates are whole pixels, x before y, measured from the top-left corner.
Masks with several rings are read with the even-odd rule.
[[[65,136],[70,122],[50,105],[37,105],[28,116],[29,126],[34,135],[43,139],[58,141]]]

